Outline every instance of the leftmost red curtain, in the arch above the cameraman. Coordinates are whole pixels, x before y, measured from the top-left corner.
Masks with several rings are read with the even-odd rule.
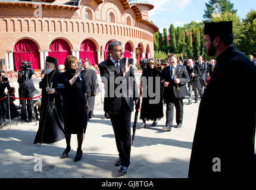
[[[14,46],[14,69],[20,70],[21,61],[32,62],[32,68],[40,68],[40,53],[35,42],[29,39],[19,40]]]

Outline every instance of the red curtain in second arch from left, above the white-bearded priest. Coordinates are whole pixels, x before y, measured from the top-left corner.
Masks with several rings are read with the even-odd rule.
[[[58,61],[58,65],[64,65],[65,58],[67,58],[68,55],[71,55],[71,51],[70,46],[65,40],[55,39],[54,41],[52,41],[49,47],[48,56],[56,58]]]

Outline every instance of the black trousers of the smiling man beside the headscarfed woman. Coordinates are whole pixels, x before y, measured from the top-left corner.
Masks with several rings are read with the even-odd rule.
[[[182,124],[183,121],[183,98],[172,97],[166,101],[166,126],[173,126],[174,106],[176,109],[176,122]]]

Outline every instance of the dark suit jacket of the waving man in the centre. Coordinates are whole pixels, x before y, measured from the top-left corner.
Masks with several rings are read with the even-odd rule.
[[[133,72],[133,68],[130,67],[129,72],[126,73],[125,77],[123,76],[125,61],[124,59],[120,60],[121,64],[121,71],[118,71],[111,59],[106,59],[105,61],[101,62],[99,66],[99,71],[101,73],[101,79],[102,82],[105,85],[105,98],[104,98],[104,111],[110,114],[118,114],[121,109],[121,103],[122,98],[125,98],[127,105],[129,106],[129,109],[131,112],[133,112],[133,100],[139,99],[139,93],[138,88],[136,85],[135,75]],[[113,78],[111,78],[111,75],[113,75]],[[120,77],[121,82],[119,81],[117,84],[115,83],[117,77]],[[129,77],[134,78],[133,83],[130,82],[129,85]],[[132,79],[131,78],[131,79]],[[126,91],[126,97],[124,97],[124,92],[121,97],[117,97],[113,90],[115,90],[117,87],[121,87],[120,85],[126,81],[127,82],[127,91]],[[113,89],[111,88],[114,87]],[[133,94],[132,97],[129,97],[129,91],[130,94]],[[113,96],[114,95],[114,96]]]

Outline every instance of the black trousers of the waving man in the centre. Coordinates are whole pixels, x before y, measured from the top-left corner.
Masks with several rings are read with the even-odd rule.
[[[117,115],[110,114],[110,120],[114,129],[115,143],[121,165],[130,165],[130,150],[131,150],[131,134],[130,134],[130,119],[132,112],[130,111],[126,100],[122,99],[120,113]]]

